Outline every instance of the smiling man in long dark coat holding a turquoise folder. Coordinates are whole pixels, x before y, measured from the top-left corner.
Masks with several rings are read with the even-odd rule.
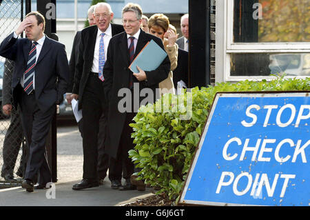
[[[112,180],[121,181],[121,168],[123,165],[123,178],[126,182],[121,190],[134,190],[135,186],[130,183],[130,177],[134,172],[134,164],[128,157],[128,150],[134,148],[133,139],[131,138],[133,130],[129,124],[132,123],[137,111],[137,109],[134,109],[135,101],[132,98],[134,93],[140,94],[143,88],[148,88],[148,90],[152,90],[155,101],[158,83],[168,77],[170,61],[166,57],[156,70],[143,71],[138,68],[139,72],[133,73],[128,66],[148,41],[153,39],[161,48],[164,49],[164,46],[161,39],[140,29],[142,23],[140,6],[128,3],[123,8],[122,14],[125,32],[117,34],[111,39],[107,50],[107,61],[103,70],[105,97],[109,102],[107,119],[110,134],[108,135],[105,152],[110,155],[109,176]],[[125,99],[128,99],[127,103],[132,103],[130,104],[131,110],[125,112],[118,109],[118,102],[124,99],[118,96],[118,92],[123,88],[130,89],[132,94],[130,97],[125,97]],[[141,103],[144,97],[138,97],[138,99],[138,103]]]

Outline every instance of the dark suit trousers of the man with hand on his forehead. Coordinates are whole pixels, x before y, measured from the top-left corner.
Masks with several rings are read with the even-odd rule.
[[[35,94],[22,92],[21,118],[26,141],[29,146],[28,162],[24,179],[45,185],[52,177],[46,158],[46,138],[50,130],[52,118],[56,111],[56,104],[46,111],[39,109]]]

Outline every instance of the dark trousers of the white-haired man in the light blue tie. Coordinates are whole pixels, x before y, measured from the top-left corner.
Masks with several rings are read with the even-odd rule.
[[[99,120],[106,115],[107,103],[103,92],[103,82],[98,75],[90,73],[82,103],[83,115],[83,179],[98,179],[98,134]]]

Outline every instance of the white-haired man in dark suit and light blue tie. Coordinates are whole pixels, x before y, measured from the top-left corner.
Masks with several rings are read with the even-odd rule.
[[[110,23],[113,16],[108,3],[97,3],[94,8],[96,26],[90,26],[81,32],[72,98],[79,99],[79,109],[82,109],[83,114],[83,180],[74,184],[73,190],[99,186],[99,119],[102,114],[107,115],[107,102],[103,93],[103,65],[110,39],[114,34],[123,32],[123,26]]]

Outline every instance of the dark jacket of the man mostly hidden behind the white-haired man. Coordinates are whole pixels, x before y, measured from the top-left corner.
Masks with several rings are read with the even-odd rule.
[[[70,61],[69,61],[70,71],[69,71],[69,85],[67,88],[67,92],[72,92],[74,72],[75,72],[76,63],[78,61],[78,52],[79,52],[80,42],[81,42],[81,31],[78,31],[76,32],[74,40],[73,40],[72,52],[71,52]]]

